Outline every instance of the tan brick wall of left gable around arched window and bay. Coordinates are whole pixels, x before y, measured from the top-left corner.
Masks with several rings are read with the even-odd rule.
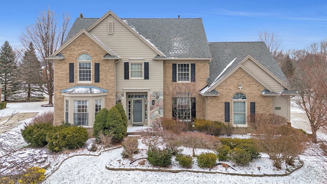
[[[88,54],[92,58],[92,83],[78,84],[77,58],[80,54]],[[108,90],[105,107],[111,108],[115,104],[114,95],[114,61],[102,59],[107,54],[96,42],[85,34],[69,44],[61,54],[65,57],[54,64],[54,124],[60,125],[64,120],[64,97],[61,90],[77,85],[93,85]],[[69,83],[69,63],[74,63],[74,83]],[[100,82],[94,82],[94,63],[100,63]],[[73,110],[73,109],[72,109]],[[71,111],[72,111],[71,110]]]

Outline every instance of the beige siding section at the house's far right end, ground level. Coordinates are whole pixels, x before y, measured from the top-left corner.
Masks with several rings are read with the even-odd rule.
[[[276,110],[275,107],[281,107],[281,110]],[[290,97],[289,96],[278,96],[272,98],[272,113],[279,116],[284,116],[288,121],[291,119],[290,114]]]

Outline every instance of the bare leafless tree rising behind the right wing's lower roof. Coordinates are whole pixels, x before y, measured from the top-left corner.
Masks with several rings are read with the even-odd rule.
[[[278,38],[278,34],[275,34],[274,32],[270,33],[269,31],[260,31],[258,32],[258,36],[259,41],[266,43],[272,56],[277,60],[278,56],[283,52],[283,47],[281,45],[281,41]]]

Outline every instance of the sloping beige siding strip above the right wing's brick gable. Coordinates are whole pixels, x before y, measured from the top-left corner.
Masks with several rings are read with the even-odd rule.
[[[249,71],[251,71],[256,77],[261,79],[268,86],[270,86],[275,92],[279,93],[285,88],[283,85],[281,85],[281,83],[272,78],[269,74],[267,74],[266,71],[262,70],[261,67],[256,65],[250,59],[245,61],[243,66],[245,66]]]

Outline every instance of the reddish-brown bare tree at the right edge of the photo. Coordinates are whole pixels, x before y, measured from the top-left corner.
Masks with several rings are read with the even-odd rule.
[[[309,50],[297,60],[290,84],[299,94],[294,102],[305,111],[311,125],[312,141],[317,143],[317,131],[327,128],[327,63],[324,53],[311,52]]]

